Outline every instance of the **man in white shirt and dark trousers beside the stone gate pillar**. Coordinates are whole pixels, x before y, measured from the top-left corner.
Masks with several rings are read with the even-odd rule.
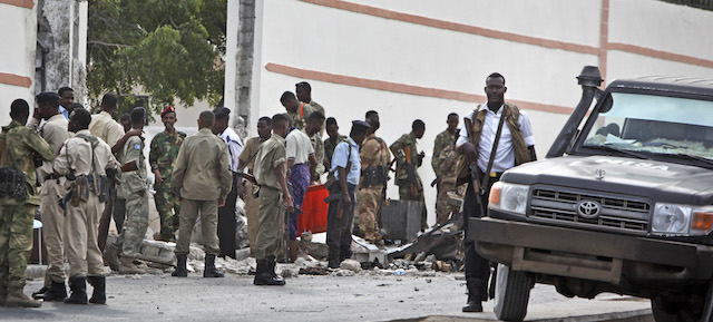
[[[218,240],[221,245],[219,257],[229,256],[235,258],[235,202],[237,201],[237,165],[240,156],[243,152],[243,140],[228,126],[231,110],[227,107],[217,107],[213,110],[215,123],[213,124],[213,133],[221,137],[227,144],[227,153],[231,159],[231,173],[233,174],[233,188],[225,199],[225,205],[218,207]]]

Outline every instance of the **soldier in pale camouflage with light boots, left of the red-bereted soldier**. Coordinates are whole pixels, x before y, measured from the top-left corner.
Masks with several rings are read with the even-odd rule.
[[[143,129],[146,110],[135,107],[131,110],[131,128]],[[117,158],[120,164],[136,163],[138,169],[121,174],[121,185],[117,189],[117,198],[126,201],[126,213],[123,230],[116,242],[105,252],[110,266],[118,266],[120,274],[144,274],[144,270],[134,264],[134,260],[141,251],[144,235],[148,230],[148,193],[146,182],[146,159],[144,157],[144,137],[128,138]],[[120,250],[120,263],[116,251]]]

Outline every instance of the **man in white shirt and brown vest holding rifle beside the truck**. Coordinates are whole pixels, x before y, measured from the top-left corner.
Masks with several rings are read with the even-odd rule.
[[[500,179],[502,172],[537,159],[529,117],[514,104],[505,103],[505,77],[498,72],[490,74],[486,78],[485,91],[488,101],[466,117],[456,143],[456,150],[473,165],[463,201],[466,235],[469,218],[486,215],[490,187]],[[462,311],[482,312],[481,302],[488,300],[490,266],[476,252],[473,242],[466,242],[465,251],[468,305]]]

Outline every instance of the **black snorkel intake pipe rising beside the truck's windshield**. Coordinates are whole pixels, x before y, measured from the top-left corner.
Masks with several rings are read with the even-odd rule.
[[[569,143],[577,134],[577,128],[582,123],[582,119],[587,115],[587,110],[589,110],[589,106],[592,106],[592,100],[595,97],[599,97],[600,89],[598,88],[602,81],[602,74],[599,74],[599,68],[596,66],[585,66],[582,69],[579,76],[577,76],[578,84],[582,86],[582,99],[579,99],[579,104],[574,109],[572,115],[569,115],[569,119],[565,123],[565,126],[559,131],[559,135],[553,143],[553,146],[549,148],[547,153],[548,158],[550,157],[559,157],[563,156],[569,146]]]

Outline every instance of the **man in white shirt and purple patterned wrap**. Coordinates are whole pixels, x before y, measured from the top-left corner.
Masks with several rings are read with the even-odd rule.
[[[290,213],[290,262],[297,258],[297,218],[302,213],[304,194],[310,187],[312,173],[316,167],[314,148],[310,137],[302,130],[292,128],[285,137],[287,155],[287,178],[292,185],[294,212]]]

